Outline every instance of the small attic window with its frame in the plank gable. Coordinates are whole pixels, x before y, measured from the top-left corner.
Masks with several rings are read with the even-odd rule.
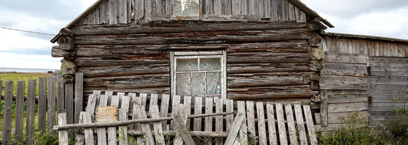
[[[174,0],[173,20],[199,20],[201,17],[201,0]]]

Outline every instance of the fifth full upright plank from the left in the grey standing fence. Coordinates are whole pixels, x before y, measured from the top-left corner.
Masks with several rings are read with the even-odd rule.
[[[51,128],[55,125],[55,76],[48,77],[47,107],[47,127],[51,131]]]

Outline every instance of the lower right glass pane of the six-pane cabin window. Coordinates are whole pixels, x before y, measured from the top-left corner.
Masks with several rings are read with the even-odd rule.
[[[220,73],[207,73],[207,94],[221,94]]]

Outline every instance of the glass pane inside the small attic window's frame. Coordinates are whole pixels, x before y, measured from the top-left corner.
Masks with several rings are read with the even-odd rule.
[[[199,16],[199,0],[174,0],[173,16]]]

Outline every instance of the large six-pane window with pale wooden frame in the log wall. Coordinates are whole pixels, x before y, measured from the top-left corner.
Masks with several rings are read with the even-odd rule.
[[[226,99],[225,53],[171,52],[171,95]]]

